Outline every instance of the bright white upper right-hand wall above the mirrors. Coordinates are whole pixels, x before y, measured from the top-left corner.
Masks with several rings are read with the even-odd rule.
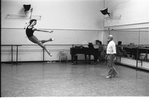
[[[140,23],[149,24],[148,0],[105,0],[105,6],[113,14],[113,18],[121,15],[120,19],[106,20],[106,27]]]

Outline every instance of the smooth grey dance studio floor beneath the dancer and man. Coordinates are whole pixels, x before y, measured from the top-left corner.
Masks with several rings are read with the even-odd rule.
[[[119,75],[106,79],[103,63],[1,64],[2,97],[149,96],[149,73],[115,65]]]

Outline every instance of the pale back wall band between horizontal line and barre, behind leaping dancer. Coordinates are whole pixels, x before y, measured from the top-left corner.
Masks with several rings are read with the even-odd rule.
[[[23,29],[2,29],[1,43],[2,44],[33,44],[26,36]],[[34,35],[39,40],[54,38],[52,42],[47,44],[87,44],[88,42],[95,43],[95,40],[102,39],[102,31],[96,30],[54,30],[53,33],[35,32]],[[99,36],[99,37],[98,37]]]

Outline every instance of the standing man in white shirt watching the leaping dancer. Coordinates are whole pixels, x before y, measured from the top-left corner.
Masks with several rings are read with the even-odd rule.
[[[116,45],[115,45],[115,42],[113,41],[112,35],[108,36],[108,45],[107,45],[106,53],[108,55],[108,67],[110,69],[106,78],[112,78],[118,74],[116,69],[113,67],[113,61],[116,54]]]

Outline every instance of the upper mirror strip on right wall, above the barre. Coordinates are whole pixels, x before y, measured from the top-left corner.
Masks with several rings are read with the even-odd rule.
[[[114,36],[114,41],[117,44],[118,41],[122,41],[123,44],[134,43],[136,45],[149,45],[149,31],[142,29],[132,30],[110,30],[104,32],[104,44],[107,42],[109,34]]]

